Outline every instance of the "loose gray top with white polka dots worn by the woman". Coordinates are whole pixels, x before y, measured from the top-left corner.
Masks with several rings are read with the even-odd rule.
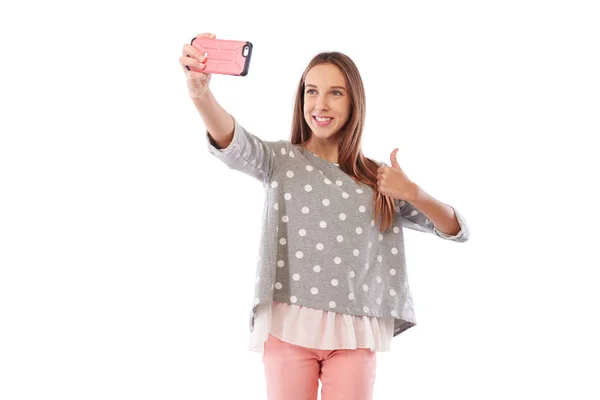
[[[257,306],[272,301],[392,317],[394,336],[416,325],[403,228],[464,242],[469,232],[462,215],[455,209],[461,231],[449,236],[410,203],[395,200],[392,229],[381,233],[368,185],[300,145],[262,140],[234,121],[227,148],[208,132],[206,138],[211,154],[265,187],[250,332]]]

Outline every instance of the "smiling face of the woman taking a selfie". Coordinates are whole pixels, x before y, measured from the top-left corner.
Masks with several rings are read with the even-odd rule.
[[[317,120],[324,117],[324,121]],[[306,74],[304,119],[314,135],[328,139],[350,116],[350,95],[342,71],[333,64],[320,64]],[[326,118],[325,118],[326,117]]]

